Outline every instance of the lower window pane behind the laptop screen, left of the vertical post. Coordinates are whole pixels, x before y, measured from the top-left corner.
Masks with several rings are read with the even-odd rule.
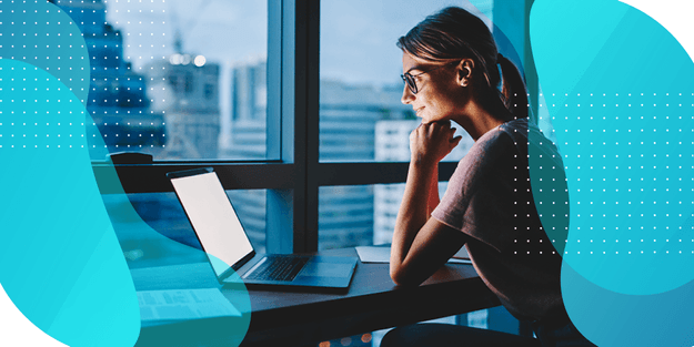
[[[227,194],[253,247],[264,252],[265,191],[228,191]],[[174,193],[102,197],[130,268],[207,262]],[[128,213],[130,210],[134,213]]]

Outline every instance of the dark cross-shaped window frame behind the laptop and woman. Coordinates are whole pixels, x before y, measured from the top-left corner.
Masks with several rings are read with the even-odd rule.
[[[525,1],[525,18],[532,2]],[[266,147],[268,157],[279,160],[117,163],[113,166],[123,191],[173,192],[165,173],[212,166],[225,190],[266,190],[269,253],[304,253],[319,249],[320,186],[404,183],[406,162],[319,161],[319,14],[320,1],[268,0]],[[525,51],[527,59],[530,50]],[[526,75],[534,75],[534,67],[529,69],[525,67]],[[534,89],[529,83],[531,94],[537,90],[536,78],[533,81]],[[456,165],[441,163],[439,180],[447,181]],[[92,167],[98,182],[111,172],[104,163]],[[109,193],[107,187],[100,188]]]

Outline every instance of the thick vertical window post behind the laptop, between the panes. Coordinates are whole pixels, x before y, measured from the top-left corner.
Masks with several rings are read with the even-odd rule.
[[[280,118],[281,161],[291,163],[293,173],[291,190],[268,192],[268,251],[318,251],[319,6],[302,0],[269,0],[268,4],[272,57],[268,60],[268,114],[270,122]],[[270,130],[268,135],[272,136]]]

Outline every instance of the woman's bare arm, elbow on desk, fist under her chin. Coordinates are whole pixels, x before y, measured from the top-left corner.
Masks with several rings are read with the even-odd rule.
[[[431,123],[410,135],[412,160],[391,245],[391,278],[399,285],[423,282],[465,243],[463,233],[430,218],[439,204],[439,162],[461,140],[453,133],[450,123]]]

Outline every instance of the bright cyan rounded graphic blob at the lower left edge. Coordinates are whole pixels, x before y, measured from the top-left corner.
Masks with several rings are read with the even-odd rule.
[[[131,346],[139,307],[90,165],[84,106],[42,69],[0,69],[0,282],[66,345]]]

